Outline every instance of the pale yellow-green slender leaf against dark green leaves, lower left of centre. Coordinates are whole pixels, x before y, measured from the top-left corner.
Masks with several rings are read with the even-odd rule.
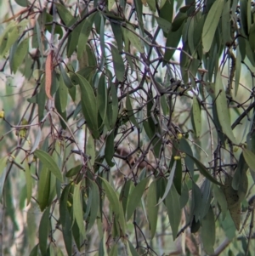
[[[82,236],[85,236],[85,226],[83,223],[82,201],[81,201],[81,184],[82,184],[82,181],[80,181],[74,187],[72,210],[73,210],[74,219],[76,219],[77,221],[79,231],[82,234]]]

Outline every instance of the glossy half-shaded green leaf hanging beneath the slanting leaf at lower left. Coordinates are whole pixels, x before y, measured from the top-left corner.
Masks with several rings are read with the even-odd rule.
[[[50,172],[46,166],[42,167],[38,182],[38,203],[43,211],[48,206],[48,198],[50,193]]]

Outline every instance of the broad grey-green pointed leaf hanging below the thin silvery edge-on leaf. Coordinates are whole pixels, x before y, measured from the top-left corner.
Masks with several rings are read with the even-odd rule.
[[[172,185],[171,190],[167,194],[165,204],[172,229],[173,240],[175,240],[178,233],[178,225],[182,216],[182,210],[179,204],[179,195],[174,185]]]

